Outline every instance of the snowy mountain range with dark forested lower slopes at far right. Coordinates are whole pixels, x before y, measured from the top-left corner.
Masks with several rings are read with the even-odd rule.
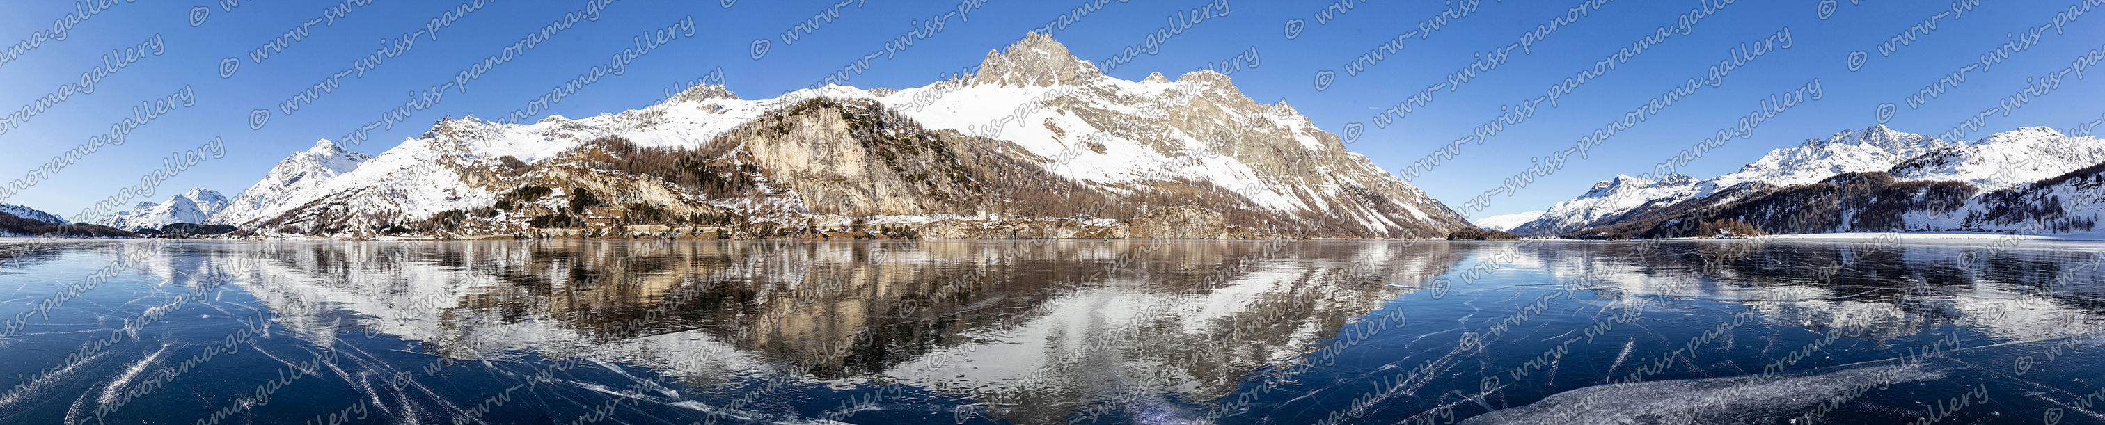
[[[1673,238],[1705,221],[1768,234],[2092,231],[2105,143],[2046,126],[1943,141],[1886,126],[1772,149],[1713,179],[1619,175],[1513,227],[1520,236]]]

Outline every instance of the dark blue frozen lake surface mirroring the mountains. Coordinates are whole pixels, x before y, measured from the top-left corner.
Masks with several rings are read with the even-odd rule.
[[[2105,379],[2069,242],[15,242],[0,318],[126,255],[0,339],[0,423],[2082,423]]]

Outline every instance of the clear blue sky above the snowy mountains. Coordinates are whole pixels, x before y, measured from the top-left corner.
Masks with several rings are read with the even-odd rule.
[[[282,114],[278,112],[280,101],[352,67],[354,59],[373,53],[383,38],[425,29],[432,19],[461,2],[370,0],[356,6],[356,2],[227,0],[225,4],[236,6],[227,11],[221,0],[116,2],[74,23],[65,40],[46,40],[19,57],[8,55],[8,61],[0,63],[0,114],[13,114],[46,93],[59,90],[61,84],[78,82],[82,72],[101,65],[101,57],[114,48],[137,46],[156,34],[162,40],[162,55],[143,57],[103,76],[95,84],[95,93],[76,93],[63,103],[38,112],[32,120],[19,122],[19,128],[0,135],[0,145],[4,145],[0,149],[4,151],[0,154],[0,183],[21,179],[53,156],[86,143],[93,135],[107,133],[141,101],[168,97],[187,84],[196,93],[196,105],[139,126],[126,137],[128,143],[103,147],[63,168],[51,181],[4,202],[72,217],[95,200],[116,194],[118,187],[137,183],[141,175],[158,168],[160,158],[171,151],[194,149],[213,137],[223,137],[225,158],[194,166],[166,181],[152,198],[141,196],[131,202],[162,200],[189,187],[210,187],[236,196],[284,156],[309,147],[316,139],[339,139],[360,124],[379,120],[385,109],[402,105],[408,99],[406,93],[450,82],[463,67],[482,57],[497,55],[528,32],[587,6],[583,0],[488,2],[440,29],[436,40],[421,36],[408,53],[387,59],[364,76],[341,78],[333,93],[293,114]],[[250,50],[303,21],[324,17],[324,8],[337,4],[347,4],[349,13],[335,23],[309,25],[301,40],[288,40],[284,50],[272,53],[261,63],[248,59]],[[968,15],[947,19],[941,34],[914,42],[897,57],[874,59],[871,67],[853,76],[848,84],[861,88],[930,84],[945,72],[977,65],[989,48],[1000,48],[1021,38],[1023,32],[1082,4],[1082,0],[985,0],[973,8],[966,2]],[[1067,29],[1055,32],[1055,38],[1082,59],[1101,63],[1124,46],[1141,44],[1149,32],[1166,25],[1172,13],[1204,4],[1208,2],[1114,0]],[[1568,6],[1579,2],[1486,0],[1476,6],[1476,13],[1448,21],[1427,38],[1406,40],[1400,53],[1387,55],[1358,76],[1345,72],[1347,61],[1375,50],[1398,34],[1417,29],[1421,21],[1455,4],[1356,2],[1349,13],[1328,21],[1318,21],[1316,13],[1332,2],[1229,0],[1225,4],[1231,11],[1227,17],[1206,19],[1162,42],[1156,55],[1141,55],[1109,74],[1126,80],[1145,78],[1149,72],[1179,76],[1206,61],[1229,59],[1255,46],[1261,65],[1234,74],[1236,84],[1246,95],[1267,103],[1286,99],[1332,133],[1343,133],[1349,122],[1360,122],[1364,135],[1349,149],[1366,154],[1385,170],[1398,170],[1434,154],[1438,145],[1469,135],[1471,126],[1497,118],[1501,105],[1541,95],[1558,80],[1652,34],[1655,27],[1671,25],[1678,15],[1701,2],[1610,2],[1535,42],[1532,53],[1516,50],[1505,65],[1476,76],[1474,82],[1457,90],[1438,90],[1429,105],[1417,107],[1415,114],[1387,128],[1377,128],[1372,122],[1372,116],[1383,107],[1396,105],[1429,84],[1444,82],[1448,72],[1465,67],[1476,53],[1511,44],[1524,32],[1564,15]],[[1937,29],[1918,34],[1913,42],[1890,55],[1882,55],[1878,44],[1907,32],[1909,25],[1949,11],[1953,2],[1865,0],[1850,4],[1850,0],[1838,0],[1827,19],[1819,19],[1819,4],[1812,0],[1741,0],[1724,6],[1718,15],[1697,23],[1688,36],[1669,36],[1615,72],[1564,95],[1560,107],[1543,105],[1524,124],[1507,126],[1482,145],[1465,145],[1459,158],[1427,170],[1412,185],[1423,187],[1450,208],[1461,208],[1469,198],[1524,170],[1530,156],[1572,145],[1579,137],[1623,118],[1625,112],[1682,80],[1703,76],[1709,65],[1726,59],[1728,48],[1783,27],[1789,27],[1793,38],[1789,48],[1768,53],[1735,69],[1722,86],[1705,86],[1636,128],[1615,135],[1596,147],[1589,160],[1572,158],[1549,179],[1535,181],[1513,196],[1490,198],[1490,204],[1471,217],[1545,208],[1585,191],[1593,181],[1619,173],[1646,173],[1673,151],[1732,126],[1739,116],[1758,107],[1758,99],[1791,90],[1812,78],[1821,80],[1821,101],[1764,122],[1751,139],[1732,139],[1690,162],[1684,173],[1716,177],[1737,170],[1768,149],[1791,147],[1804,139],[1827,137],[1844,128],[1871,126],[1880,103],[1899,105],[1899,112],[1886,122],[1892,128],[1943,133],[2017,93],[2027,84],[2027,78],[2038,80],[2050,69],[2063,69],[2078,55],[2101,48],[2105,42],[2105,25],[2099,25],[2105,23],[2105,11],[2097,11],[2099,17],[2067,23],[2065,34],[2048,29],[2036,46],[2012,53],[1987,72],[1968,72],[1964,84],[1913,109],[1903,97],[1966,63],[1981,61],[1979,55],[2010,40],[2004,34],[2046,25],[2057,11],[2078,2],[1979,4],[1964,15],[1937,19]],[[200,25],[192,25],[196,6],[210,11]],[[1966,4],[1960,2],[1960,6]],[[34,32],[48,32],[55,19],[76,13],[76,2],[11,2],[6,8],[8,13],[0,15],[0,48],[34,38]],[[80,8],[95,8],[95,4],[80,4]],[[865,53],[882,50],[884,40],[907,34],[914,21],[958,11],[960,2],[850,2],[838,6],[838,19],[821,23],[817,32],[802,34],[794,44],[781,40],[781,34],[791,25],[827,8],[831,2],[739,0],[726,8],[722,0],[619,0],[608,4],[598,21],[579,21],[554,40],[488,69],[480,80],[469,82],[465,93],[448,90],[442,103],[413,112],[400,126],[373,130],[370,141],[354,149],[381,154],[404,137],[421,135],[429,122],[442,116],[503,116],[592,65],[606,63],[608,55],[632,46],[632,38],[640,32],[674,25],[688,15],[695,19],[693,38],[678,38],[636,59],[623,76],[606,76],[543,114],[594,116],[644,107],[661,99],[663,88],[701,78],[716,67],[724,69],[730,90],[741,97],[775,97],[808,86]],[[1292,40],[1286,38],[1288,19],[1303,19],[1303,29]],[[762,59],[751,59],[756,38],[770,40]],[[1846,65],[1850,50],[1867,53],[1867,61],[1857,72]],[[225,57],[240,61],[229,78],[221,78],[221,59]],[[1316,76],[1324,69],[1337,72],[1337,80],[1326,90],[1316,90]],[[2092,74],[2105,74],[2105,69]],[[2038,97],[2008,116],[1989,116],[1985,130],[1966,139],[2017,126],[2069,128],[2099,120],[2105,114],[2101,93],[2105,90],[2097,80],[2078,80],[2069,74],[2054,93]],[[259,130],[250,130],[253,109],[269,109],[269,120]]]

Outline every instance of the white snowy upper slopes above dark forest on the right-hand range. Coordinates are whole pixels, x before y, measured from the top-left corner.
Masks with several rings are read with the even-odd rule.
[[[1972,185],[1979,196],[2025,187],[2033,181],[2052,179],[2101,162],[2105,162],[2105,141],[2097,137],[2065,137],[2046,126],[1996,133],[1970,143],[1871,126],[1865,130],[1842,130],[1827,139],[1808,139],[1798,147],[1772,149],[1737,173],[1690,181],[1688,185],[1667,187],[1661,183],[1625,189],[1644,183],[1644,179],[1619,177],[1617,181],[1602,181],[1579,198],[1558,202],[1541,219],[1516,227],[1516,234],[1556,236],[1610,225],[1619,219],[1638,217],[1684,200],[1699,200],[1730,187],[1812,185],[1844,173],[1886,173],[1897,181],[1960,181]],[[1741,200],[1741,196],[1745,194],[1735,191],[1732,196],[1705,202],[1722,206]],[[1918,227],[1964,227],[1956,223],[1958,219],[1951,219],[1953,223],[1918,221],[1909,223]]]

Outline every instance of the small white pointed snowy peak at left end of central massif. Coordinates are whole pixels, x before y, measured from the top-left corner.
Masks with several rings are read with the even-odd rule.
[[[284,212],[290,208],[286,202],[293,198],[314,194],[330,179],[337,179],[337,175],[352,173],[366,160],[370,156],[343,149],[326,139],[316,141],[314,147],[280,160],[278,166],[269,168],[269,175],[263,175],[263,181],[244,189],[208,221],[210,225],[242,225],[257,217]]]

